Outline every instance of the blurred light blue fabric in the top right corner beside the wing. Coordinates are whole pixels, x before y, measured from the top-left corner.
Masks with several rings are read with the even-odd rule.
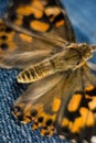
[[[96,1],[62,0],[78,42],[96,44]]]

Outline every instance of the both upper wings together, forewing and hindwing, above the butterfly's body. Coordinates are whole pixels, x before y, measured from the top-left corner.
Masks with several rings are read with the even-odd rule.
[[[0,21],[0,67],[23,69],[62,51],[64,38],[75,41],[60,1],[14,0]]]

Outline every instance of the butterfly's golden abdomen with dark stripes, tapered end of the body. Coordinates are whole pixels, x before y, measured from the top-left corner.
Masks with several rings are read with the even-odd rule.
[[[18,76],[18,81],[32,82],[42,79],[49,75],[52,75],[55,72],[54,69],[55,68],[53,62],[46,59],[21,72]]]

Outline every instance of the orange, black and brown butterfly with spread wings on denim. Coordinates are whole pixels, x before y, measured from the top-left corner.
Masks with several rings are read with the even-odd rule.
[[[0,67],[19,68],[30,84],[13,116],[42,135],[96,142],[95,45],[77,44],[60,0],[13,0],[0,21]]]

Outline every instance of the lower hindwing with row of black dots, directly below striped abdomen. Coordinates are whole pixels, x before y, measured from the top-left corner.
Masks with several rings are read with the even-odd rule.
[[[70,73],[57,73],[39,81],[33,82],[21,97],[14,102],[12,112],[20,121],[28,123],[34,121],[33,129],[42,128],[42,135],[52,135],[55,130],[57,113],[65,96],[63,88],[72,78],[75,82],[70,88],[73,90],[76,76]],[[62,90],[61,90],[62,89]],[[68,95],[67,95],[68,96]],[[63,107],[64,108],[64,107]]]

